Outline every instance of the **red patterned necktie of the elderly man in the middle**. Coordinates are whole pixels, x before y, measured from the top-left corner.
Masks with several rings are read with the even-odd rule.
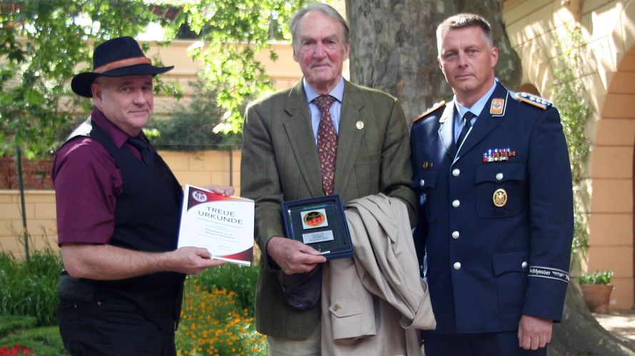
[[[337,134],[331,120],[330,107],[335,98],[320,95],[313,101],[320,108],[322,117],[317,127],[317,155],[322,164],[322,189],[324,193],[333,194],[333,178],[335,177],[335,156],[337,155]]]

